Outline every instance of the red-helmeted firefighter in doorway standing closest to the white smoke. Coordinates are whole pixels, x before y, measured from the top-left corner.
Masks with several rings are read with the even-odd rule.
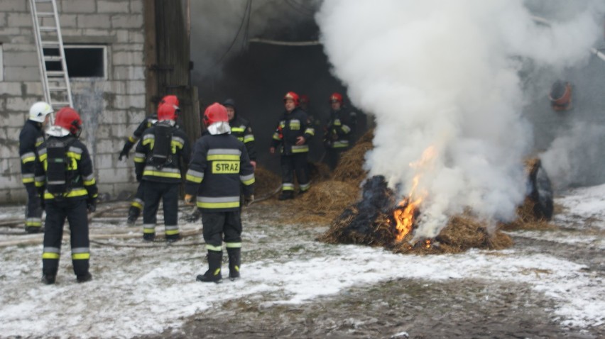
[[[342,94],[333,93],[329,97],[330,113],[324,129],[324,146],[326,148],[327,164],[330,170],[338,165],[340,153],[349,148],[351,135],[356,126],[354,112],[344,111]]]

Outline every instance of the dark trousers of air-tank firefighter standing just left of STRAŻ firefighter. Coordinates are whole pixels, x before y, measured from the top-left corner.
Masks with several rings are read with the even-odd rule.
[[[164,226],[166,235],[178,234],[178,182],[142,181],[145,191],[143,206],[143,233],[154,233],[160,201],[164,205]]]

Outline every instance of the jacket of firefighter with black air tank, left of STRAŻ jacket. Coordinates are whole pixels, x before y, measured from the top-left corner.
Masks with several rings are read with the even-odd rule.
[[[158,128],[156,125],[147,128],[142,135],[141,142],[136,145],[134,155],[136,177],[152,182],[180,183],[181,170],[189,162],[191,156],[189,139],[185,132],[178,129],[177,126],[173,126],[168,160],[163,166],[158,167],[153,162],[153,148],[156,147],[156,128]]]

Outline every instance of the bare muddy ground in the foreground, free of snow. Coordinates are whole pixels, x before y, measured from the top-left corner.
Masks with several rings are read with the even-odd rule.
[[[279,209],[283,205],[256,204],[244,215],[247,223],[262,219],[267,226],[281,230],[274,234],[277,238],[288,237],[288,226],[284,229],[282,222],[266,218],[278,214]],[[310,241],[327,229],[327,225],[298,227],[293,233]],[[556,232],[602,233],[594,228],[557,228]],[[524,232],[511,236],[513,250],[546,253],[586,265],[585,270],[596,277],[594,284],[602,286],[605,265],[599,246],[540,240]],[[313,247],[302,251],[313,251]],[[253,252],[244,253],[242,279],[246,279],[246,258],[256,257]],[[354,286],[302,304],[272,303],[266,297],[254,296],[231,299],[184,318],[178,329],[139,338],[605,338],[603,323],[590,328],[563,325],[560,316],[552,312],[554,302],[540,291],[514,282],[392,279]]]

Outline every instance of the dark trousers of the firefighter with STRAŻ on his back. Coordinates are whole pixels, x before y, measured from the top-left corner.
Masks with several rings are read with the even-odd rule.
[[[219,248],[225,243],[241,243],[240,211],[206,212],[202,211],[204,240],[207,245]]]

